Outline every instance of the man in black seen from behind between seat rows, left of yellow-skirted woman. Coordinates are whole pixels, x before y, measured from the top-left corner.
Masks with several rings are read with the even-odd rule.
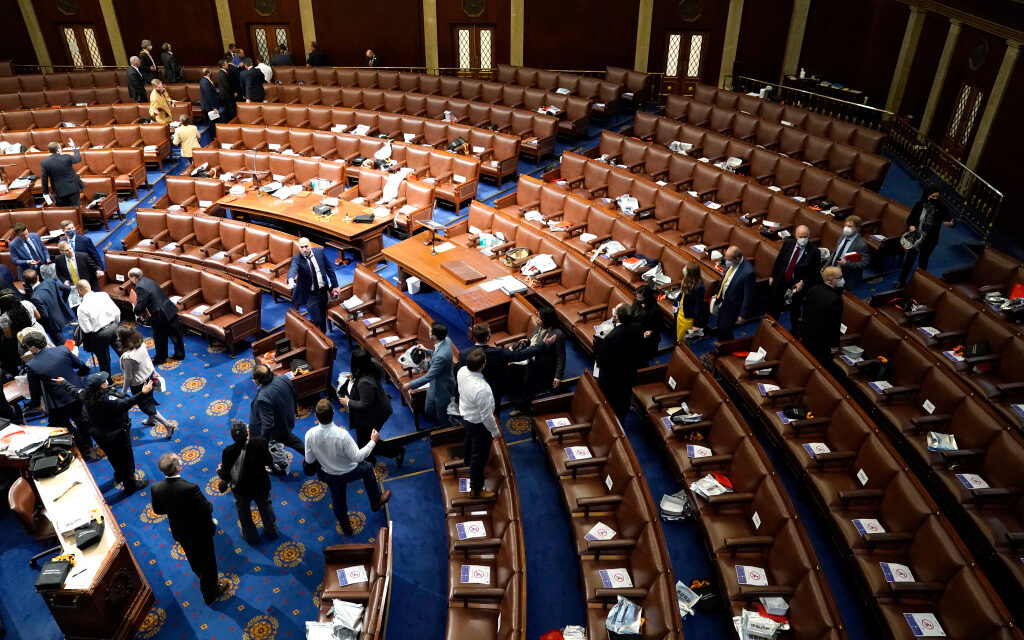
[[[630,305],[618,304],[612,311],[614,329],[595,345],[597,385],[621,422],[626,422],[633,395],[637,362],[641,357],[640,325],[633,322]]]

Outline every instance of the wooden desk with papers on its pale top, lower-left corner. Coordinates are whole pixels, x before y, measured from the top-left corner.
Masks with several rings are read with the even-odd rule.
[[[76,480],[79,484],[60,497]],[[62,519],[93,509],[103,518],[102,539],[85,551],[73,536],[59,537],[62,553],[75,554],[77,563],[63,589],[40,593],[65,638],[134,638],[153,605],[153,589],[82,457],[76,453],[67,471],[33,483],[55,529]]]

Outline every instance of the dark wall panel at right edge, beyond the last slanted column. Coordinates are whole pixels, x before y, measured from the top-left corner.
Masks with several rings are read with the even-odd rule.
[[[1017,60],[1017,69],[1007,86],[992,133],[978,165],[978,173],[1002,191],[1005,200],[997,226],[1018,246],[1024,246],[1024,216],[1020,215],[1024,210],[1024,180],[1021,180],[1020,169],[1020,141],[1024,139],[1021,103],[1024,103],[1024,63]]]

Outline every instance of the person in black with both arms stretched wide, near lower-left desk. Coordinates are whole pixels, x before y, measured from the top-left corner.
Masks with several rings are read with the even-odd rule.
[[[150,485],[148,479],[135,479],[135,452],[131,447],[131,418],[128,410],[138,403],[140,396],[125,395],[111,388],[106,382],[109,379],[110,374],[101,371],[89,374],[85,379],[84,389],[63,378],[55,378],[53,383],[85,403],[85,411],[92,423],[90,433],[114,467],[114,481],[120,482],[126,494],[134,494]],[[153,382],[142,385],[142,393],[152,390]]]

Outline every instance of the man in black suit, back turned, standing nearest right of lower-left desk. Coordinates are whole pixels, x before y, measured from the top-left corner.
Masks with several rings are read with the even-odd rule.
[[[181,545],[188,566],[199,578],[203,600],[212,604],[227,593],[231,583],[217,579],[217,552],[213,536],[217,521],[213,505],[197,484],[181,478],[181,459],[177,454],[164,454],[157,465],[166,476],[150,489],[153,492],[153,512],[167,515],[171,537]]]

